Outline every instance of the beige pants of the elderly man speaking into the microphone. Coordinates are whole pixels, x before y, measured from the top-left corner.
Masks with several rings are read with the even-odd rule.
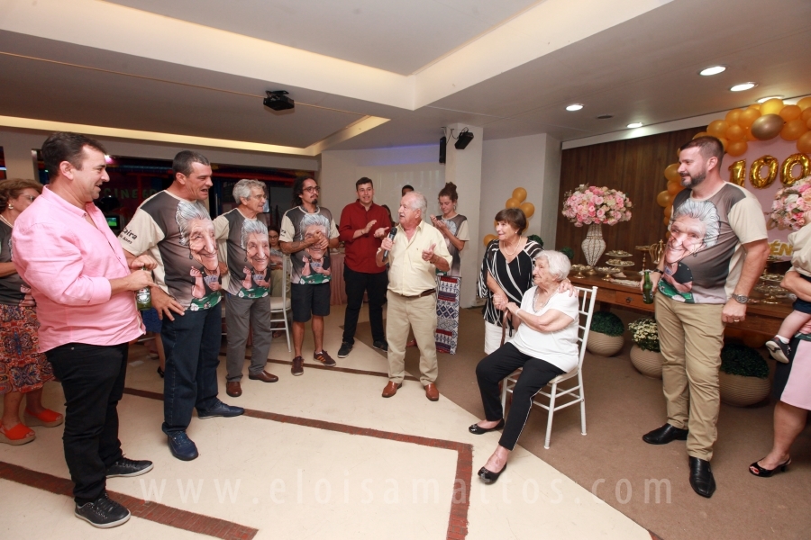
[[[388,378],[392,383],[405,379],[405,341],[409,327],[414,330],[420,349],[420,382],[423,386],[436,382],[436,294],[405,298],[388,291],[386,338],[388,341]]]

